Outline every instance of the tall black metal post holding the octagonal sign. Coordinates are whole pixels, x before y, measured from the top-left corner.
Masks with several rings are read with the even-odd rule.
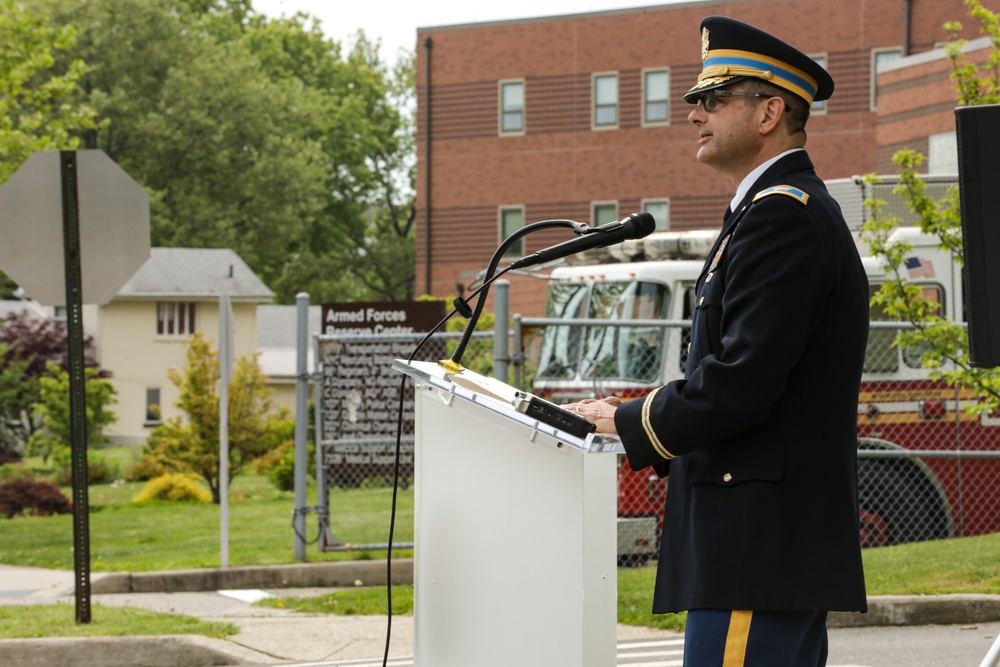
[[[69,347],[70,445],[73,471],[73,567],[76,622],[90,623],[90,507],[87,498],[87,385],[83,364],[83,298],[76,151],[60,152],[66,340]]]

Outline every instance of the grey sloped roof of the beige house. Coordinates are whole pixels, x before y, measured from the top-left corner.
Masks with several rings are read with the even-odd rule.
[[[246,262],[224,248],[151,248],[149,259],[115,298],[216,298],[223,294],[239,301],[274,298],[274,292]]]

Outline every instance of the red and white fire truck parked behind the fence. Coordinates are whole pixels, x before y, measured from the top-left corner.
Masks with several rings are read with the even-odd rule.
[[[682,377],[694,285],[717,234],[654,233],[587,251],[579,263],[554,269],[535,393],[556,403],[611,395],[630,400]],[[963,321],[961,272],[954,258],[916,227],[900,227],[894,235],[913,248],[907,280],[940,304],[942,316]],[[860,241],[859,252],[874,291],[885,270]],[[887,320],[873,306],[858,396],[862,544],[1000,531],[998,461],[976,455],[1000,449],[1000,418],[970,414],[965,406],[975,397],[931,379],[919,350],[893,345],[898,325]],[[807,446],[809,434],[802,440]],[[631,470],[620,457],[621,560],[655,557],[668,483],[648,469]]]

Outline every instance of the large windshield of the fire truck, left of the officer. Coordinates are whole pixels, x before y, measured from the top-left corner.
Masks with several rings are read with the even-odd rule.
[[[657,320],[669,305],[670,290],[660,283],[553,283],[546,317]],[[660,370],[663,341],[664,329],[657,326],[547,327],[538,377],[650,382]]]

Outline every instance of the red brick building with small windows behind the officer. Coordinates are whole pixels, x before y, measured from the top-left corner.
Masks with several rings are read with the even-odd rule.
[[[420,29],[417,293],[468,292],[500,241],[538,220],[601,224],[648,210],[658,229],[719,227],[733,186],[695,160],[682,99],[701,71],[698,26],[711,14],[767,30],[833,75],[836,91],[808,125],[807,149],[827,179],[892,171],[903,145],[933,149],[955,98],[941,52],[917,74],[875,73],[946,42],[946,21],[978,36],[962,0],[690,2]],[[928,86],[933,100],[921,99]],[[939,153],[949,146],[945,137]],[[532,234],[508,259],[567,238]],[[513,312],[542,314],[545,282],[510,280]]]

